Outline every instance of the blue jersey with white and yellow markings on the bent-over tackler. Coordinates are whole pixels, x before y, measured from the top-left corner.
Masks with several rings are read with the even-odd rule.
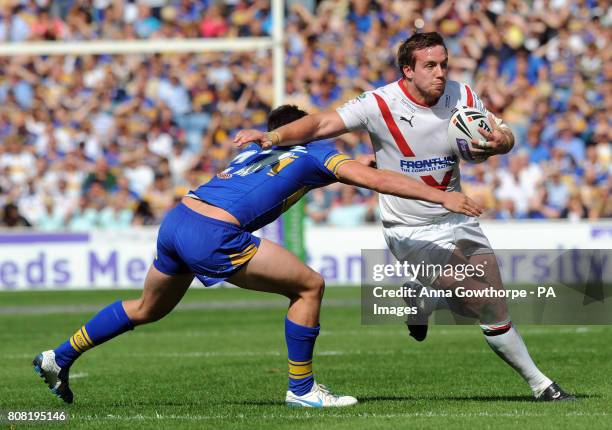
[[[225,209],[242,228],[255,231],[309,190],[336,182],[338,168],[348,160],[329,141],[267,150],[252,144],[189,195]]]

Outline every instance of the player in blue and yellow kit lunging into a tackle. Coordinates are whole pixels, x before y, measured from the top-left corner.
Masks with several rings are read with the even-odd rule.
[[[295,106],[281,106],[270,114],[268,128],[273,130],[305,115]],[[339,153],[331,143],[267,150],[253,144],[167,214],[142,296],[102,309],[56,349],[36,356],[35,370],[58,397],[71,403],[69,370],[74,361],[94,346],[164,317],[195,276],[206,286],[227,280],[241,288],[289,299],[285,318],[288,405],[357,403],[354,397],[335,395],[314,380],[312,355],[319,334],[323,278],[291,252],[252,234],[278,218],[308,190],[337,181],[440,203],[470,216],[481,213],[480,207],[461,193],[440,191],[398,173],[368,167]]]

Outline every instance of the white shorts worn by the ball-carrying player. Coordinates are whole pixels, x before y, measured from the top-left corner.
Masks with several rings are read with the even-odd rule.
[[[466,257],[493,252],[478,220],[457,213],[449,213],[428,225],[384,227],[383,234],[395,258],[411,264],[445,265],[456,248]],[[418,280],[431,286],[436,278],[432,274],[419,276]]]

